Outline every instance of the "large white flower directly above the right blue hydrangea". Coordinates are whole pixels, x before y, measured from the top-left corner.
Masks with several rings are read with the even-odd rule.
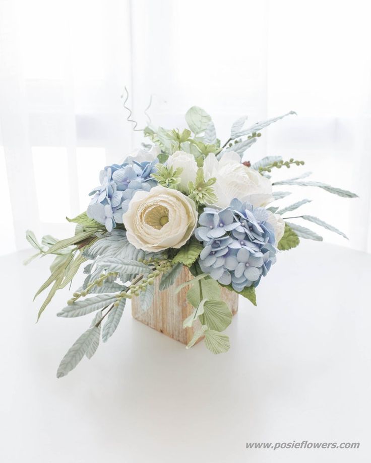
[[[206,180],[216,178],[213,188],[218,201],[215,206],[227,207],[233,198],[249,201],[254,207],[265,206],[274,200],[269,179],[244,166],[234,151],[224,153],[220,161],[210,153],[204,162],[204,173]]]

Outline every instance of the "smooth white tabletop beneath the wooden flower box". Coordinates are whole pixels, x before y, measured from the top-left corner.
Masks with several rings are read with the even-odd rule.
[[[57,365],[91,317],[36,325],[45,259],[0,259],[2,463],[366,462],[371,255],[303,242],[240,299],[231,349],[191,350],[133,320],[67,377]],[[75,282],[78,283],[78,282]],[[246,442],[360,442],[358,449],[246,449]]]

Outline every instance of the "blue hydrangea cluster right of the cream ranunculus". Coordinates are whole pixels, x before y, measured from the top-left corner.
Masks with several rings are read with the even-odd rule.
[[[233,199],[217,210],[206,207],[195,236],[204,244],[201,270],[236,291],[257,286],[276,261],[274,229],[264,207]]]

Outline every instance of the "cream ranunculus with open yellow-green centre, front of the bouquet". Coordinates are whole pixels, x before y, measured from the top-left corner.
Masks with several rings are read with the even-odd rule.
[[[122,215],[129,242],[144,251],[180,248],[197,224],[196,205],[180,191],[162,186],[137,191]]]

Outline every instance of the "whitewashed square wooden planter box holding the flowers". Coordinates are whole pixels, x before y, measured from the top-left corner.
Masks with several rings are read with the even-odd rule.
[[[179,284],[192,278],[188,268],[183,267],[175,283],[164,291],[158,289],[159,279],[156,279],[155,296],[147,311],[141,310],[139,297],[132,299],[133,317],[170,338],[188,344],[194,332],[200,328],[200,324],[198,325],[199,322],[197,322],[192,328],[183,328],[183,321],[192,314],[194,307],[187,302],[185,297],[189,287],[182,288],[177,294],[175,294],[175,289]],[[221,297],[235,315],[238,310],[238,295],[229,289],[221,288]]]

